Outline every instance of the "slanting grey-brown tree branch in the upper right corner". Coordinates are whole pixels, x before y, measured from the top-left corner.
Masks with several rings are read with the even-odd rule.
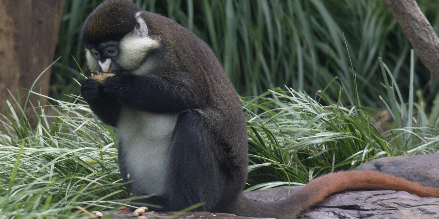
[[[439,81],[439,39],[416,0],[384,0],[425,67]]]

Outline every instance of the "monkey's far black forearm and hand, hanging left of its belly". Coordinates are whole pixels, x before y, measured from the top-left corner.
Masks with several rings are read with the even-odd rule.
[[[102,92],[100,82],[88,78],[81,86],[81,95],[102,122],[115,126],[119,119],[120,102]]]

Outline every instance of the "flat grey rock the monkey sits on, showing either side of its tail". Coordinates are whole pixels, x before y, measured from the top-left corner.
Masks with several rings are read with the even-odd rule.
[[[291,195],[300,186],[291,187]],[[247,197],[261,200],[281,200],[286,197],[288,187],[276,187],[249,192]],[[267,197],[270,197],[267,199]],[[103,212],[104,215],[107,212]],[[176,212],[145,212],[148,218],[165,219]],[[112,219],[130,219],[133,212],[116,212]],[[209,212],[187,212],[177,216],[181,219],[262,219],[241,217],[232,214]],[[419,198],[404,191],[349,191],[328,197],[323,203],[310,208],[300,219],[399,219],[439,218],[439,198]]]

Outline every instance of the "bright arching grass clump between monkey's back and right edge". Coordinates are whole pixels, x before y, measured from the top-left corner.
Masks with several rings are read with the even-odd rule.
[[[413,78],[413,51],[411,57]],[[321,91],[312,98],[306,92],[277,88],[245,99],[252,164],[248,180],[252,187],[248,191],[306,183],[379,157],[439,152],[438,118],[431,115],[428,119],[422,103],[413,101],[413,79],[409,102],[403,102],[381,57],[378,63],[387,91],[381,99],[388,106],[384,112],[392,116],[391,123],[382,121],[375,109],[344,106],[340,99],[332,102]],[[342,96],[345,88],[339,87],[339,92]]]

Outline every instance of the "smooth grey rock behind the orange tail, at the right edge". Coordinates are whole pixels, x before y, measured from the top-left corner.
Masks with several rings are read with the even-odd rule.
[[[439,154],[384,157],[365,162],[354,170],[373,170],[423,186],[439,187]]]

